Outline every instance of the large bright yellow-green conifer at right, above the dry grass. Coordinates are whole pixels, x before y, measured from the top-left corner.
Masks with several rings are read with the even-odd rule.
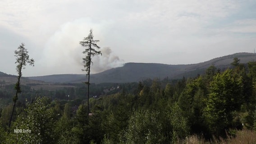
[[[242,104],[241,89],[241,79],[234,77],[230,69],[214,76],[214,80],[210,83],[210,93],[204,112],[210,130],[215,134],[224,134],[224,130],[230,128],[231,112],[239,110]]]

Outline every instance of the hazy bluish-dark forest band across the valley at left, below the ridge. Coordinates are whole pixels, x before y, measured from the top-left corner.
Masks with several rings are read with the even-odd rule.
[[[2,81],[2,83],[5,83]],[[25,103],[26,100],[31,102],[37,97],[46,96],[51,99],[58,100],[74,100],[74,99],[85,99],[87,94],[86,85],[81,84],[51,84],[51,90],[44,88],[33,89],[33,86],[37,84],[27,84],[21,85],[22,93],[19,94],[18,102]],[[122,87],[130,84],[118,84],[118,83],[101,83],[101,84],[91,84],[90,87],[90,97],[100,96],[102,94],[115,94],[119,92]],[[14,91],[15,85],[1,85],[0,81],[0,109],[3,108],[6,104],[12,102],[12,98],[15,94]]]

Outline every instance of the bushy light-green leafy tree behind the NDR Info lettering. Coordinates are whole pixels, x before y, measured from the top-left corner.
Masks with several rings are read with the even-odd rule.
[[[33,103],[27,103],[26,115],[19,115],[11,127],[8,142],[18,144],[54,144],[53,121],[47,110],[46,97],[37,98]],[[14,133],[14,129],[31,130],[30,132]]]

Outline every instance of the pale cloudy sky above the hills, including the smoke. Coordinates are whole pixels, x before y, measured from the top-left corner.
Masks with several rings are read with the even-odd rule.
[[[256,0],[1,0],[0,72],[17,75],[25,44],[35,66],[23,76],[82,74],[93,29],[102,56],[92,73],[124,63],[201,63],[256,49]]]

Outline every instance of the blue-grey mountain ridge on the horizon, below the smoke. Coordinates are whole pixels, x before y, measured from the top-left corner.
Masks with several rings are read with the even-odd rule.
[[[253,53],[237,53],[224,57],[214,58],[203,63],[196,64],[180,64],[169,65],[160,63],[126,63],[123,67],[112,68],[104,72],[91,75],[91,83],[103,82],[134,82],[146,78],[165,78],[170,79],[182,78],[183,76],[197,76],[203,74],[206,68],[215,65],[218,68],[230,67],[233,58],[239,58],[240,63],[248,63],[249,61],[256,61],[256,54]],[[59,83],[81,83],[86,81],[86,75],[81,74],[66,74],[66,75],[50,75],[50,76],[34,76],[28,77],[31,80],[59,82]]]

